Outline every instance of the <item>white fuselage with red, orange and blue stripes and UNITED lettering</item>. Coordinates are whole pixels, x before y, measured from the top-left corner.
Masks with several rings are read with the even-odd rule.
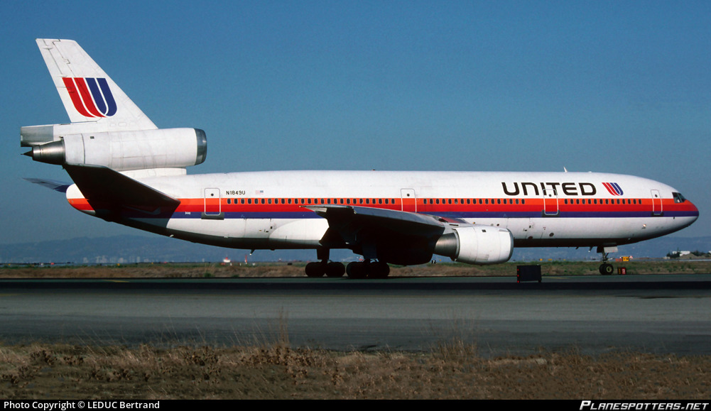
[[[626,244],[680,230],[698,216],[690,201],[675,199],[674,188],[619,174],[265,171],[137,180],[181,205],[170,215],[127,213],[119,223],[247,249],[319,247],[328,222],[306,208],[317,204],[493,225],[510,230],[517,247]],[[82,203],[75,186],[67,196]],[[86,205],[83,211],[92,212]]]

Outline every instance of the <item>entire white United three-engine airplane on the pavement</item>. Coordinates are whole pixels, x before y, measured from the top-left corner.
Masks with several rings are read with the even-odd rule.
[[[260,171],[187,174],[203,163],[201,129],[159,129],[71,40],[37,45],[70,117],[21,127],[34,161],[63,166],[82,213],[151,233],[248,250],[313,249],[309,277],[384,278],[433,255],[472,265],[514,247],[597,247],[611,274],[617,246],[697,220],[678,190],[647,178],[580,172]],[[344,266],[330,250],[363,260]]]

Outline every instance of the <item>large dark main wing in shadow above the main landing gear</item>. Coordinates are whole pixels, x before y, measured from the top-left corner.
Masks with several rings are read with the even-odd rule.
[[[348,247],[365,258],[428,262],[447,223],[432,215],[383,208],[326,205],[306,207],[328,220],[324,247]]]

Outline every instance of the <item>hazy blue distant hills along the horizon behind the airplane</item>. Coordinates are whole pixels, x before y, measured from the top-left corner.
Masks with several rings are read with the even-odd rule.
[[[619,247],[612,257],[632,255],[636,258],[661,258],[676,250],[711,250],[711,236],[708,237],[661,237]],[[116,237],[73,238],[61,241],[26,242],[22,244],[0,245],[1,263],[55,262],[73,264],[116,264],[132,262],[219,262],[229,257],[242,262],[250,250],[214,247],[195,244],[169,237],[144,237],[140,235],[119,235]],[[356,260],[357,255],[349,250],[333,250],[331,259],[337,261]],[[446,257],[439,257],[449,261]],[[595,249],[587,248],[517,248],[513,252],[514,261],[590,260],[599,259]],[[259,261],[313,261],[314,250],[257,250],[248,256],[252,262]]]

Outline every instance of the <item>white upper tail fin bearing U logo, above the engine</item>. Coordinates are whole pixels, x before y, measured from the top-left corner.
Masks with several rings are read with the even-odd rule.
[[[76,41],[36,41],[72,123],[105,132],[157,128]]]

